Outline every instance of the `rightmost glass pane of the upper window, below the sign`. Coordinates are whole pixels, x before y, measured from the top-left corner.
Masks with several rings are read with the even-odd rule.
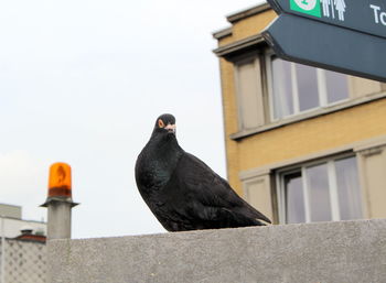
[[[332,70],[324,72],[328,102],[332,104],[349,98],[347,76]]]

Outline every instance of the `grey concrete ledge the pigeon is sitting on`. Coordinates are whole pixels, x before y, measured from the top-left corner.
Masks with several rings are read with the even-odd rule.
[[[53,283],[386,282],[386,219],[49,241]]]

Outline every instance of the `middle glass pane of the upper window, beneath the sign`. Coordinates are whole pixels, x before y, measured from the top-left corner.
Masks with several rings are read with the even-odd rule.
[[[314,67],[296,64],[299,95],[299,110],[304,111],[319,106],[318,78]]]

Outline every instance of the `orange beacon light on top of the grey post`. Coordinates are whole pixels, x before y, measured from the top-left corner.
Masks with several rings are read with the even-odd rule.
[[[57,162],[50,167],[49,197],[72,198],[71,166]]]

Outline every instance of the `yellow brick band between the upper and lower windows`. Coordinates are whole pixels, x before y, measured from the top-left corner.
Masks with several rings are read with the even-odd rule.
[[[386,99],[288,124],[244,139],[239,171],[386,134]]]

